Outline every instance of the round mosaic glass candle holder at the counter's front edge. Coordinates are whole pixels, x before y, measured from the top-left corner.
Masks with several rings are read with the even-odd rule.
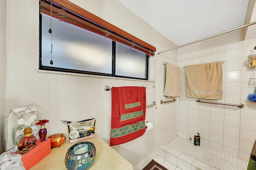
[[[88,151],[82,154],[74,154],[74,148],[78,145],[87,144]],[[92,142],[83,141],[72,145],[65,156],[67,170],[87,170],[92,166],[96,156],[96,148]]]

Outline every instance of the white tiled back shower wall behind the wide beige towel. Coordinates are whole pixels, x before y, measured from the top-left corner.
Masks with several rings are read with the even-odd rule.
[[[190,131],[200,133],[201,145],[249,160],[256,139],[256,103],[247,99],[254,92],[250,78],[256,76],[249,67],[248,55],[256,39],[213,47],[178,56],[181,96],[178,99],[178,136],[188,139]],[[183,66],[225,61],[222,64],[223,98],[212,102],[244,104],[244,108],[197,103],[186,97]],[[201,99],[202,100],[202,99]],[[210,101],[210,100],[206,100]]]

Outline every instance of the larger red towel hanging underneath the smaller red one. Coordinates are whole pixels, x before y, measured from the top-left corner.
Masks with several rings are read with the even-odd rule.
[[[132,141],[137,137],[142,136],[146,131],[145,117],[146,117],[146,88],[140,87],[143,93],[143,115],[142,119],[137,119],[132,123],[126,125],[120,124],[120,99],[119,88],[112,87],[112,108],[111,108],[111,133],[110,133],[110,146],[120,145],[128,141]],[[141,100],[141,101],[142,101]]]

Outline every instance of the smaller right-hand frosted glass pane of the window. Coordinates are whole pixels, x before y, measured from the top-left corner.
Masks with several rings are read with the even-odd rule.
[[[148,56],[116,42],[116,75],[147,79]]]

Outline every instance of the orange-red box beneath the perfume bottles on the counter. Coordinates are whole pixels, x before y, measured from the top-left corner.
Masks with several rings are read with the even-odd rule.
[[[29,170],[37,164],[40,160],[46,157],[51,152],[51,139],[46,138],[41,142],[40,139],[36,141],[36,146],[28,151],[26,154],[22,154],[23,166],[26,170]]]

